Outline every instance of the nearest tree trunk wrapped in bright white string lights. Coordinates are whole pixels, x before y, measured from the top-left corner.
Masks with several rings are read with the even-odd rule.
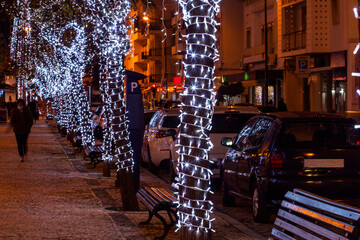
[[[209,138],[215,105],[214,62],[219,1],[180,1],[187,27],[185,87],[182,94],[179,146],[179,222],[181,239],[207,239],[212,230],[209,200]]]

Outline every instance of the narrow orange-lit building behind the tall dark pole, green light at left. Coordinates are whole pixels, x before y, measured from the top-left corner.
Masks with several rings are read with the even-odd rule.
[[[246,101],[253,104],[274,103],[282,97],[283,71],[278,63],[277,9],[275,0],[245,0],[242,36]],[[266,25],[265,25],[266,21]],[[265,26],[267,27],[267,69],[265,69]],[[263,100],[265,79],[268,81],[268,99]]]

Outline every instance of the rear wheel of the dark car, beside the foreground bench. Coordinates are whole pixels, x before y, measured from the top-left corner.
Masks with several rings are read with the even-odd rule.
[[[252,214],[255,222],[267,223],[270,219],[270,209],[265,206],[265,196],[257,185],[252,192]]]

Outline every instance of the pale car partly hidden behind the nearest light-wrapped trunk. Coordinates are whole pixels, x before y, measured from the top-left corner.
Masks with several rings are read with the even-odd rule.
[[[221,145],[221,139],[223,137],[235,137],[240,128],[255,114],[260,114],[260,111],[251,106],[215,107],[209,135],[214,145],[209,153],[209,159],[212,162],[210,168],[213,171],[213,179],[220,178],[220,163],[227,151],[227,147]],[[170,140],[170,157],[172,160],[170,174],[172,181],[178,173],[178,147],[175,145],[175,142]]]

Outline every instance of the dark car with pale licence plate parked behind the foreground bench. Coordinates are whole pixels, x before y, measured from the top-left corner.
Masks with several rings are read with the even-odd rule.
[[[336,114],[284,112],[257,115],[240,130],[222,163],[223,204],[252,200],[256,222],[285,193],[302,188],[347,199],[360,194],[360,135],[351,118]]]

